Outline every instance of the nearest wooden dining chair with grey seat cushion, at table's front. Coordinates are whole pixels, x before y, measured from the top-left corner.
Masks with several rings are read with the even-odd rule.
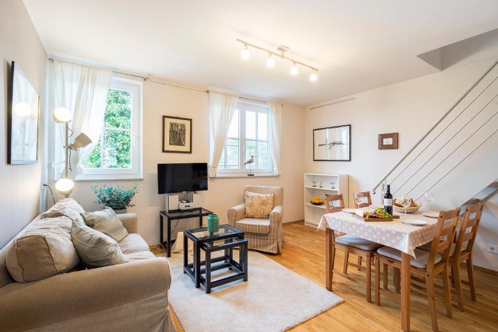
[[[450,211],[441,211],[434,230],[433,241],[430,251],[415,248],[415,256],[411,258],[410,272],[425,278],[427,297],[429,300],[429,312],[431,315],[432,330],[438,331],[436,298],[434,291],[434,278],[441,274],[443,279],[444,299],[446,303],[446,316],[452,317],[451,311],[451,290],[449,268],[451,266],[451,244],[455,237],[457,222],[460,216],[460,208]],[[448,225],[445,225],[450,220]],[[441,236],[446,236],[446,240],[439,242]],[[386,295],[398,296],[386,289],[380,289],[380,264],[390,265],[394,268],[401,268],[401,251],[383,246],[375,254],[375,304],[380,305],[380,292]],[[406,285],[401,285],[406,287]],[[411,286],[411,285],[410,285]],[[410,287],[408,286],[408,287]]]

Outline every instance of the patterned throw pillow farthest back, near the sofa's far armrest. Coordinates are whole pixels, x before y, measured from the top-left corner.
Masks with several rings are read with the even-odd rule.
[[[88,226],[111,236],[118,242],[128,236],[123,223],[111,208],[104,207],[102,211],[85,212],[81,216]]]

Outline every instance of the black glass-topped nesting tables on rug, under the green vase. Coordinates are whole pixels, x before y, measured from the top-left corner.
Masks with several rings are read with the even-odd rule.
[[[188,262],[188,240],[194,242],[193,262]],[[233,259],[233,249],[239,248],[239,262]],[[201,249],[206,259],[201,261]],[[212,258],[212,253],[224,250],[221,257]],[[219,263],[219,264],[216,264]],[[216,264],[216,265],[214,265]],[[212,279],[212,272],[226,269],[232,270],[228,276]],[[188,274],[195,287],[204,286],[206,294],[211,288],[240,280],[248,281],[248,240],[244,231],[227,224],[221,224],[216,233],[209,233],[206,227],[186,229],[183,231],[183,273]]]

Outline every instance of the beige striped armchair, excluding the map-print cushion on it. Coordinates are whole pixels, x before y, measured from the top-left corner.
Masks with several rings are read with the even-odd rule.
[[[231,226],[245,232],[249,249],[278,254],[283,242],[283,187],[246,186],[244,193],[273,194],[273,210],[269,219],[246,218],[246,203],[228,210]],[[244,200],[245,195],[243,195]]]

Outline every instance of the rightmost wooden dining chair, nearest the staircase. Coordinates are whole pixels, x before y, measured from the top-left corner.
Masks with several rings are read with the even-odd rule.
[[[474,214],[471,218],[471,214]],[[451,257],[452,264],[452,280],[455,283],[458,298],[458,309],[464,311],[462,284],[469,286],[472,301],[476,301],[476,286],[474,283],[474,265],[472,264],[472,249],[476,241],[477,228],[481,215],[483,214],[483,204],[468,205],[465,207],[464,218],[460,224],[460,230],[454,243],[453,255]],[[468,228],[470,230],[468,231]],[[467,242],[467,245],[464,244]],[[460,263],[464,262],[467,265],[467,274],[469,280],[462,280],[460,276]]]

